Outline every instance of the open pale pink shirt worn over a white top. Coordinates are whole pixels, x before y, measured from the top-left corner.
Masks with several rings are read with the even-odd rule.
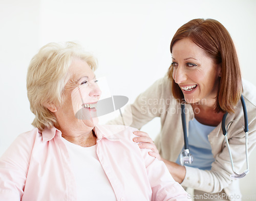
[[[189,200],[164,163],[133,142],[135,130],[113,125],[94,128],[97,156],[117,200]],[[69,153],[60,137],[55,127],[34,128],[17,137],[0,158],[0,200],[76,200]]]

